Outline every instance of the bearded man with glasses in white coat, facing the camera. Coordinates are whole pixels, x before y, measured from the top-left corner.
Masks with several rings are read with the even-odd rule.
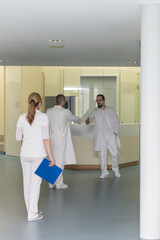
[[[95,108],[88,119],[88,125],[95,120],[94,132],[94,150],[99,152],[101,176],[100,178],[107,178],[109,172],[107,171],[107,149],[112,156],[112,170],[116,177],[120,177],[118,166],[120,139],[118,137],[119,120],[113,108],[105,105],[105,97],[102,94],[97,95],[96,102],[98,108]]]

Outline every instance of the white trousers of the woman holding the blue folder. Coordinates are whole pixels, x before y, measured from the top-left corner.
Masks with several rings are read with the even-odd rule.
[[[34,172],[42,162],[43,158],[21,157],[23,171],[24,200],[28,213],[28,218],[38,216],[38,200],[42,178]]]

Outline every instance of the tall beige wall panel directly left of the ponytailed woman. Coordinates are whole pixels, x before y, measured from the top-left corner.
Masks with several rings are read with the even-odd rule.
[[[21,67],[6,67],[6,154],[19,156],[15,139],[16,123],[21,114]]]

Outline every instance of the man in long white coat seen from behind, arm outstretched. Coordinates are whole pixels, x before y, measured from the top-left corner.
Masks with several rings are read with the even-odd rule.
[[[53,108],[48,109],[46,114],[49,119],[52,153],[56,159],[56,165],[64,169],[64,165],[76,164],[70,121],[81,123],[81,120],[64,108],[64,95],[57,95],[56,104]],[[57,179],[55,186],[57,189],[68,187],[68,185],[63,183],[63,172]],[[53,185],[49,184],[49,188],[53,188]]]

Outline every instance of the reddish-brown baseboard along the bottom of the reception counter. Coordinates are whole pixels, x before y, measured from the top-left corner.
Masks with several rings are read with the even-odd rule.
[[[139,161],[130,162],[130,163],[122,163],[119,164],[119,168],[130,167],[134,165],[138,165]],[[72,169],[72,170],[98,170],[100,169],[99,165],[66,165],[65,169]],[[112,165],[107,165],[107,169],[112,169]]]

